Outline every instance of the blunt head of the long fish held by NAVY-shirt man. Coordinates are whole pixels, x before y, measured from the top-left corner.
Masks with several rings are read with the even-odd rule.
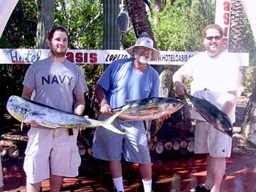
[[[20,122],[24,122],[27,114],[27,107],[24,105],[23,98],[12,95],[6,104],[6,109],[12,117]]]

